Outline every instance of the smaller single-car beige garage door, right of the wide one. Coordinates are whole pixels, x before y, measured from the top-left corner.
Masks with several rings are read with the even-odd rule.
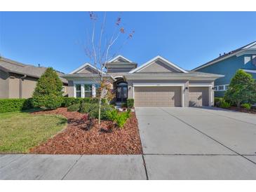
[[[189,107],[209,106],[208,87],[189,87]]]

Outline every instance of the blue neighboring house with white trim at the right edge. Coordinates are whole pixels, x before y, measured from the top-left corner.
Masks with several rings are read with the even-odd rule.
[[[224,75],[215,81],[215,97],[223,97],[231,78],[238,69],[243,69],[256,79],[256,41],[229,53],[224,53],[192,71]]]

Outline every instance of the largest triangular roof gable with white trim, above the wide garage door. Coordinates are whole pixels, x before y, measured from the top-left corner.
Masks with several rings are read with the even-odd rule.
[[[142,64],[140,67],[133,69],[129,74],[133,74],[135,72],[140,73],[187,73],[184,69],[178,67],[177,65],[169,62],[165,58],[161,56],[156,56],[148,62]]]

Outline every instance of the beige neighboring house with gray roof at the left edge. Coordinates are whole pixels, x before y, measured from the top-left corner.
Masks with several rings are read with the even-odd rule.
[[[32,97],[36,81],[46,67],[35,67],[0,57],[0,98]],[[58,72],[59,76],[64,74]],[[60,77],[64,95],[67,95],[67,80]]]

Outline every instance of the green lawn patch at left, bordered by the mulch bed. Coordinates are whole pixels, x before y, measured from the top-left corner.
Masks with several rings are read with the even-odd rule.
[[[0,114],[0,153],[27,153],[67,125],[67,119],[55,115],[27,112]]]

